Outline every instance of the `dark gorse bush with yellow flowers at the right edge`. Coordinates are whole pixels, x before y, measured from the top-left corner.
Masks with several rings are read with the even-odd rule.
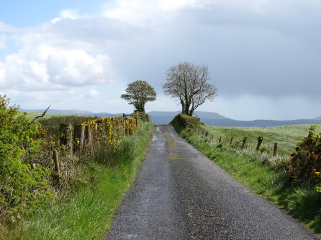
[[[287,173],[293,181],[310,180],[320,181],[321,172],[321,137],[315,134],[315,125],[309,129],[308,136],[302,138],[291,153]]]

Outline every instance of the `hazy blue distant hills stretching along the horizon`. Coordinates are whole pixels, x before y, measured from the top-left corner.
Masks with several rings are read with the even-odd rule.
[[[21,111],[34,111],[43,112],[45,109],[20,109]],[[49,113],[61,114],[75,114],[75,115],[89,115],[89,116],[121,116],[122,113],[109,113],[109,112],[91,112],[85,110],[56,110],[49,109]],[[149,111],[151,120],[155,124],[168,124],[174,116],[181,111]],[[128,113],[128,112],[127,112]],[[209,126],[282,126],[282,125],[296,125],[296,124],[321,124],[321,116],[314,119],[296,119],[296,120],[252,120],[240,121],[234,120],[220,115],[217,112],[209,111],[195,111],[195,116],[200,117],[201,122]]]

